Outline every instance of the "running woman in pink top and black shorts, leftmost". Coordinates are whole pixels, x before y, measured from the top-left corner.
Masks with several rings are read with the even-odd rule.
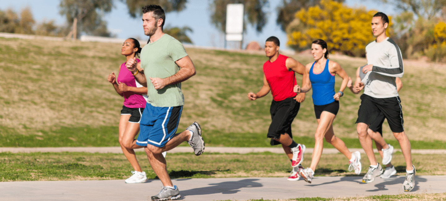
[[[128,38],[124,41],[121,48],[121,54],[128,59],[139,56],[141,47],[138,40]],[[137,59],[139,72],[140,60]],[[124,105],[121,110],[121,117],[119,120],[119,144],[128,162],[132,165],[135,171],[132,171],[132,176],[125,180],[125,183],[143,183],[147,180],[145,172],[141,171],[141,167],[136,159],[135,151],[133,149],[142,148],[135,144],[135,136],[139,132],[139,123],[141,114],[145,108],[146,100],[143,95],[147,94],[147,88],[142,87],[125,67],[125,63],[121,64],[118,77],[112,72],[108,75],[108,82],[115,88],[116,92],[124,97]]]

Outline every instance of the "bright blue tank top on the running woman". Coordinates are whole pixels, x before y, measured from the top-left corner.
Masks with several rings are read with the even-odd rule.
[[[324,70],[319,74],[313,73],[313,65],[310,68],[310,81],[313,88],[313,104],[314,105],[327,105],[335,102],[333,96],[335,96],[335,76],[331,75],[328,71],[328,59],[325,63]]]

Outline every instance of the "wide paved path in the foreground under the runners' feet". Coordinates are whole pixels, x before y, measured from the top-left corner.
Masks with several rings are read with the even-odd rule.
[[[313,183],[285,177],[175,179],[184,201],[246,201],[298,197],[356,197],[401,193],[445,193],[446,176],[416,176],[411,192],[404,192],[405,176],[376,178],[369,184],[361,176],[315,177]],[[161,189],[161,181],[125,184],[124,180],[0,182],[2,201],[147,201]]]

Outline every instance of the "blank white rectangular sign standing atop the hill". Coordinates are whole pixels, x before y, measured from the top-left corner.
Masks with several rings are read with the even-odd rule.
[[[243,40],[243,4],[227,4],[226,6],[226,41]],[[226,46],[225,46],[226,47]]]

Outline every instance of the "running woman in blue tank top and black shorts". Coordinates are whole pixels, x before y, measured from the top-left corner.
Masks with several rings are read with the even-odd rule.
[[[304,74],[305,85],[294,87],[294,92],[308,92],[313,88],[314,113],[318,121],[318,127],[314,134],[314,151],[310,167],[300,169],[299,174],[307,182],[311,183],[314,171],[322,155],[323,140],[330,142],[336,149],[349,159],[349,171],[355,170],[356,174],[361,173],[361,155],[359,151],[350,152],[345,143],[335,136],[333,132],[333,120],[339,111],[339,98],[343,96],[343,91],[347,86],[348,76],[339,63],[328,60],[327,43],[318,39],[311,44],[311,54],[314,63],[306,65]],[[335,92],[335,75],[339,75],[343,81],[339,92]]]

